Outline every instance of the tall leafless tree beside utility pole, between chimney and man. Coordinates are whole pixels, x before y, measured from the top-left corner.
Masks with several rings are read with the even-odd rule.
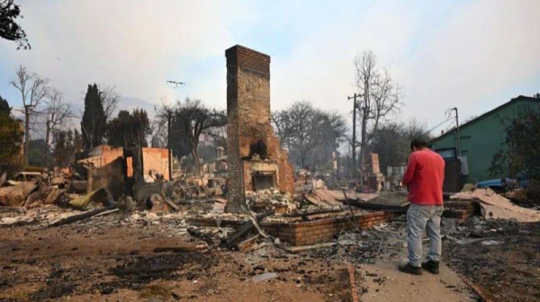
[[[357,55],[356,88],[360,100],[356,108],[360,115],[360,171],[365,168],[365,152],[369,142],[374,138],[380,123],[392,113],[400,111],[400,87],[394,83],[388,68],[377,66],[377,57],[373,51],[365,51]],[[360,178],[362,183],[362,177]]]

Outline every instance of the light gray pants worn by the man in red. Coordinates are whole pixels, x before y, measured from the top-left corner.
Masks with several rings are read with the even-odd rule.
[[[422,234],[427,230],[429,237],[428,260],[441,259],[441,215],[442,206],[419,206],[411,204],[407,211],[407,244],[409,245],[409,263],[413,266],[422,264]]]

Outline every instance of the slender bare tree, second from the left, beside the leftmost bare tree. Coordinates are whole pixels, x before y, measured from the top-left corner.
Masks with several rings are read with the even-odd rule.
[[[45,100],[47,108],[43,111],[45,116],[45,149],[43,150],[43,156],[45,158],[45,166],[49,164],[49,152],[50,134],[57,129],[59,125],[67,122],[73,117],[71,112],[71,105],[67,102],[63,102],[62,93],[56,89],[50,89],[47,93],[47,99]]]

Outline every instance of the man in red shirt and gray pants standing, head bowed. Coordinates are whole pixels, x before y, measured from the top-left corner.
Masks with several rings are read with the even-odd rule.
[[[441,215],[443,214],[443,181],[445,160],[429,150],[423,139],[410,143],[411,154],[403,184],[409,188],[407,211],[407,244],[409,263],[400,265],[399,270],[421,275],[422,269],[439,273],[441,258]],[[428,261],[422,263],[422,234],[428,231]]]

